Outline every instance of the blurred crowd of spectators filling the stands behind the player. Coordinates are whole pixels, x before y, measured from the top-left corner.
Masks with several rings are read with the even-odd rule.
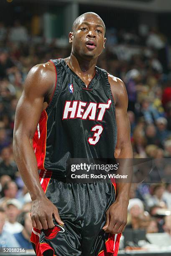
[[[70,46],[31,36],[15,21],[0,22],[0,245],[31,248],[31,198],[13,156],[15,109],[26,76],[36,64],[65,58]],[[157,28],[107,30],[98,66],[120,77],[128,92],[135,159],[154,159],[148,172],[135,168],[127,228],[171,236],[171,57]],[[168,161],[165,161],[168,160]],[[147,168],[148,169],[148,168]],[[146,170],[146,168],[145,168]],[[152,170],[152,172],[151,172]],[[9,239],[10,238],[10,239]],[[10,243],[10,244],[9,244]]]

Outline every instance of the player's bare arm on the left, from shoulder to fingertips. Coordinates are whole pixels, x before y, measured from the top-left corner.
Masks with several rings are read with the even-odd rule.
[[[53,215],[63,225],[55,205],[43,192],[38,176],[33,136],[36,131],[44,97],[50,98],[54,90],[56,74],[51,62],[33,67],[26,77],[24,90],[15,113],[13,151],[18,170],[32,199],[31,220],[34,228],[53,228]]]

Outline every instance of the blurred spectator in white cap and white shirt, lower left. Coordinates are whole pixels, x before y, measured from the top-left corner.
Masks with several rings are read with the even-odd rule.
[[[21,225],[17,218],[20,214],[21,204],[20,202],[13,198],[6,203],[6,215],[7,220],[5,221],[4,230],[11,234],[20,233],[23,230],[23,225]]]

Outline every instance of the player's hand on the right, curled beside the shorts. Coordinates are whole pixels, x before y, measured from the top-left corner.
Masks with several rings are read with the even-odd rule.
[[[106,223],[102,228],[106,233],[118,234],[125,230],[128,205],[114,202],[106,211]]]

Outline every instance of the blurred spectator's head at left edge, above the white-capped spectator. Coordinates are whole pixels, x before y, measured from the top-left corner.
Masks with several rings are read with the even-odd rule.
[[[17,192],[18,192],[18,187],[14,181],[6,182],[3,187],[4,197],[0,199],[0,206],[5,205],[5,203],[9,199],[15,198],[17,195]]]

